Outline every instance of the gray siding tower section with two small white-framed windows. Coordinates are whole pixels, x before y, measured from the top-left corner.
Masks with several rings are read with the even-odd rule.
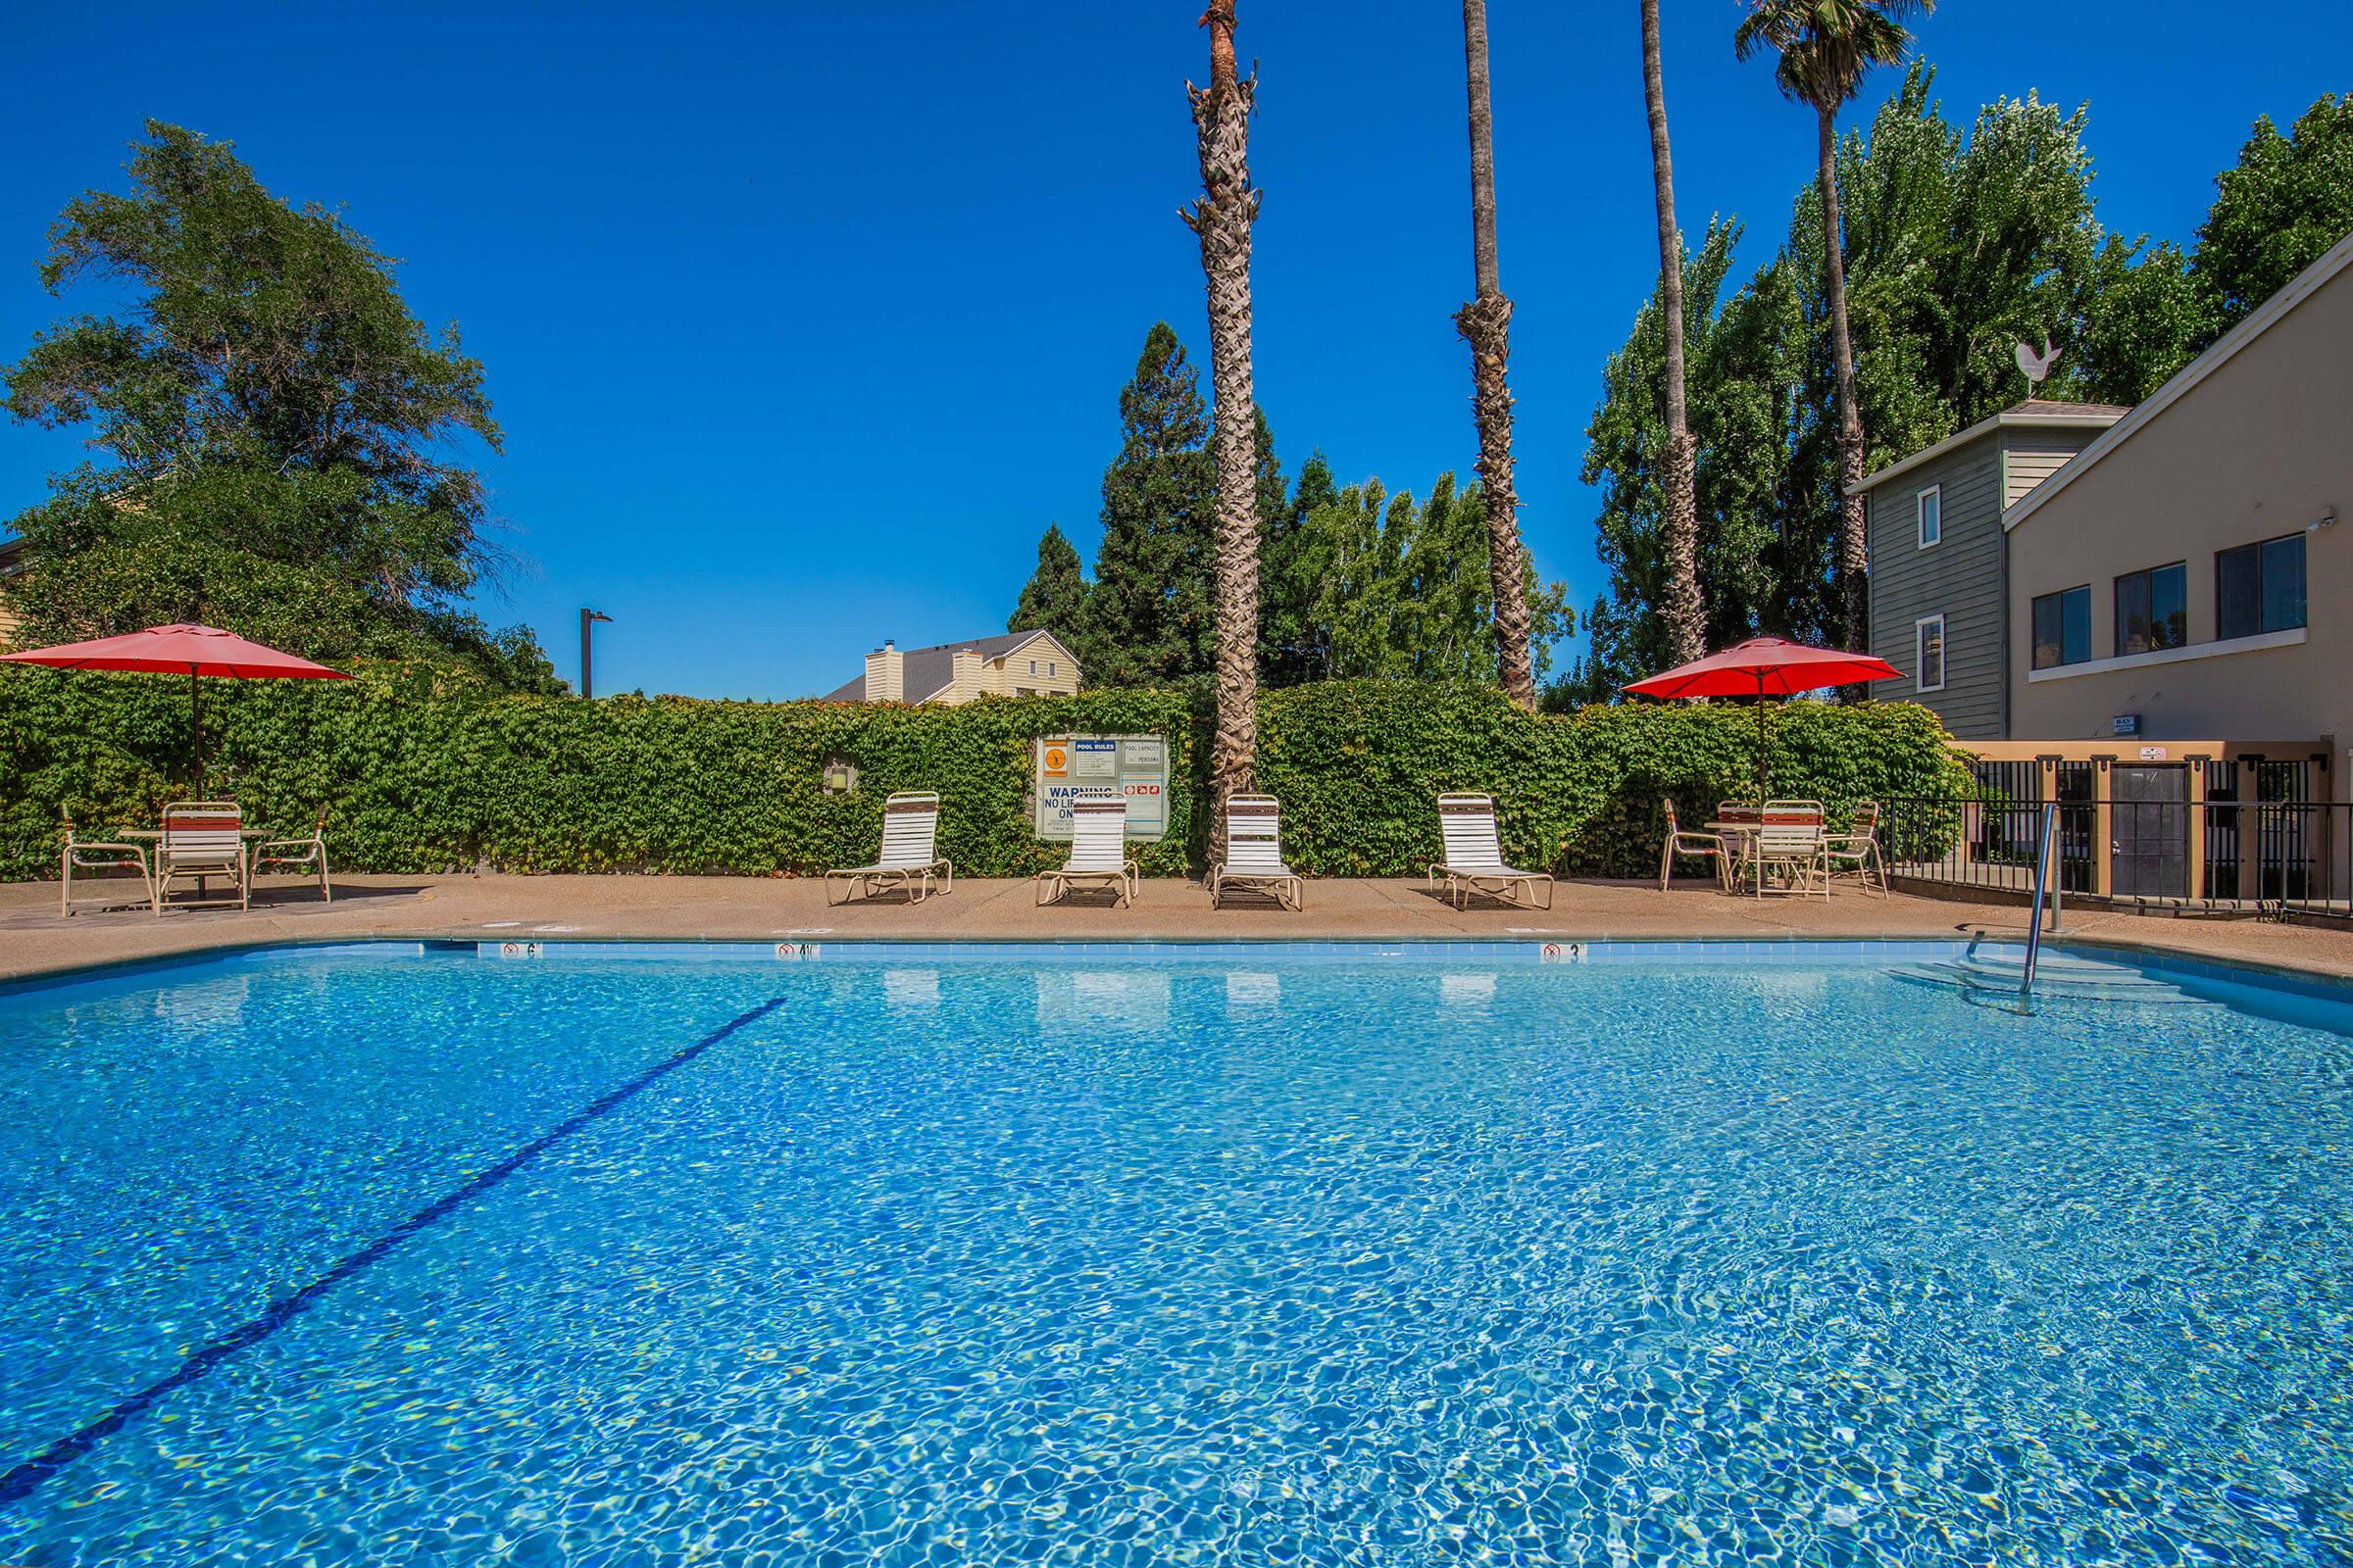
[[[2127,409],[2028,400],[1866,477],[1871,651],[1882,696],[1934,708],[1960,741],[2009,733],[2002,512]]]

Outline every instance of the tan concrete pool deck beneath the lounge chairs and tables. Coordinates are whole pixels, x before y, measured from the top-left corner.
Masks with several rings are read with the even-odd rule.
[[[80,893],[80,884],[75,884]],[[94,891],[94,889],[92,889]],[[1212,910],[1198,882],[1146,882],[1127,910],[1073,896],[1038,907],[1021,879],[958,879],[908,905],[901,896],[826,907],[814,879],[760,877],[348,877],[332,905],[318,889],[268,882],[252,910],[87,907],[56,912],[54,882],[0,886],[0,978],[26,978],[216,947],[365,938],[574,940],[1777,940],[2021,938],[2019,905],[1958,903],[1840,886],[1821,898],[1732,898],[1708,882],[1661,893],[1642,882],[1562,882],[1553,907],[1471,910],[1419,879],[1308,882],[1306,910],[1271,900]],[[2247,919],[2177,919],[2066,910],[2066,936],[2202,959],[2353,978],[2353,931]]]

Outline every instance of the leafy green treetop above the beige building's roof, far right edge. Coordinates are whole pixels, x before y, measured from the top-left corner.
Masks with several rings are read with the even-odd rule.
[[[2191,263],[2212,310],[2207,341],[2353,233],[2353,92],[2320,94],[2285,136],[2259,118],[2214,186]]]

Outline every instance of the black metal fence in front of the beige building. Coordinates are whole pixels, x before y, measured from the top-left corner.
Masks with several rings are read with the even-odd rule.
[[[2002,778],[1998,769],[2019,769]],[[2075,769],[2080,766],[2080,776]],[[1977,797],[1880,802],[1880,851],[1899,879],[1972,893],[2033,891],[2042,832],[2033,764],[1981,764]],[[2238,799],[2217,769],[2205,799],[2094,795],[2089,764],[2057,773],[2059,865],[2068,898],[2113,905],[2353,917],[2353,804],[2294,799],[2301,773],[2257,780]],[[2019,785],[2007,790],[2002,785]],[[2268,797],[2268,799],[2266,799]]]

